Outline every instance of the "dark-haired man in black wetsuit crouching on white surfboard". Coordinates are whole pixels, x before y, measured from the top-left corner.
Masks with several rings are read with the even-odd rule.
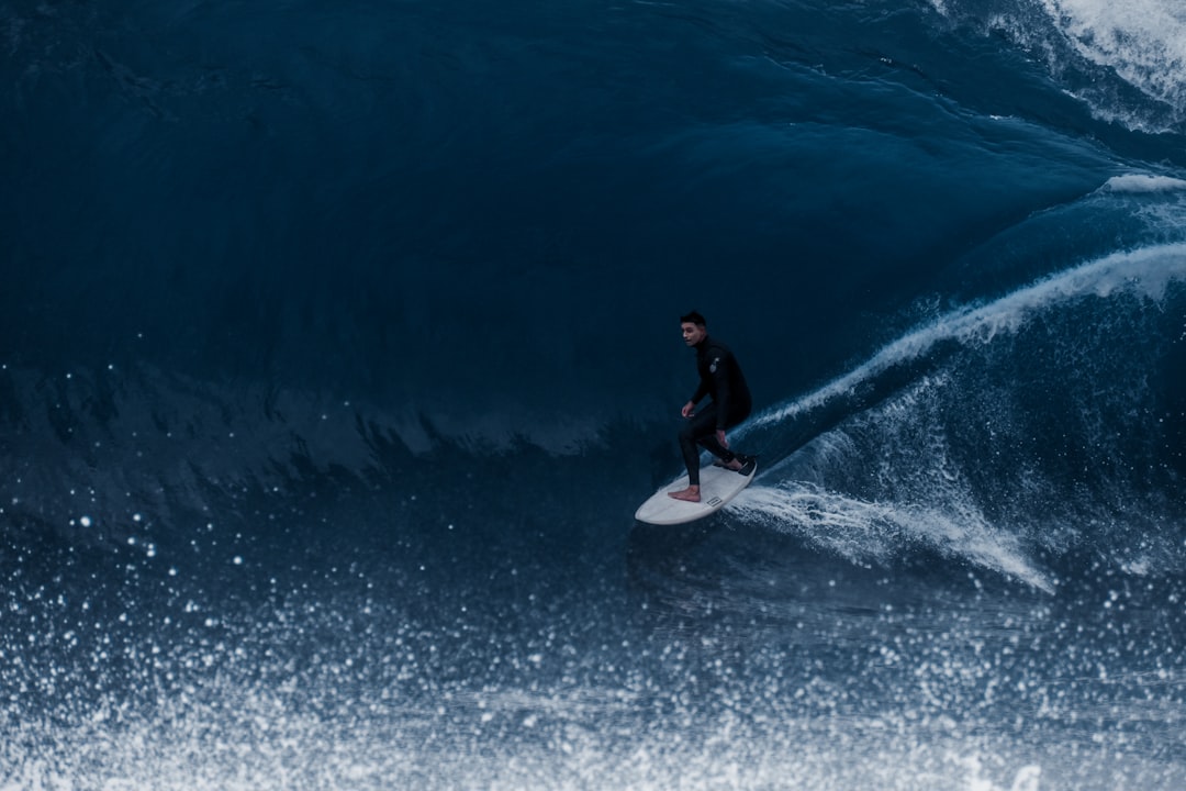
[[[696,446],[703,446],[727,470],[740,472],[748,458],[729,451],[725,430],[748,417],[753,402],[741,366],[728,346],[708,337],[704,317],[696,311],[680,317],[680,331],[683,342],[696,350],[700,385],[680,410],[688,420],[680,430],[680,451],[688,467],[688,487],[669,493],[680,500],[699,503],[700,449]],[[712,396],[712,401],[696,412],[696,403],[704,396]]]

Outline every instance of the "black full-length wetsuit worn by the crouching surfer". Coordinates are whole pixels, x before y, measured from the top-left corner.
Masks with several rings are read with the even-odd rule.
[[[753,401],[750,387],[741,374],[741,366],[738,365],[728,346],[706,337],[695,349],[700,387],[689,401],[695,404],[704,396],[712,396],[713,401],[688,419],[680,432],[680,449],[688,467],[689,483],[699,486],[700,449],[696,446],[703,446],[726,463],[737,458],[732,451],[716,441],[716,432],[733,428],[748,417]]]

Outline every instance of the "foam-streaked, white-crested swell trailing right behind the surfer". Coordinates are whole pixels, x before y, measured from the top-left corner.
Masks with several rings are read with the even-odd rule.
[[[1047,592],[1085,556],[1181,572],[1182,282],[1186,245],[1149,247],[937,318],[740,430],[774,464],[734,510],[854,563],[925,550]]]

